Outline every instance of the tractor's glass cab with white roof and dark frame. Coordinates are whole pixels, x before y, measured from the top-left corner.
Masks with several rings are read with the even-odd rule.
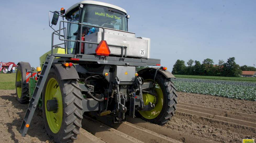
[[[67,23],[67,40],[72,40],[67,42],[67,54],[79,53],[79,42],[76,42],[79,40],[79,35],[82,33],[81,40],[87,41],[85,40],[86,35],[101,30],[101,28],[96,27],[127,31],[128,17],[126,10],[108,3],[82,1],[74,4],[65,12],[66,20],[72,22]],[[83,23],[86,25],[79,25],[76,23]],[[81,31],[80,28],[82,29]],[[81,45],[81,54],[85,54],[85,44],[82,43]]]

